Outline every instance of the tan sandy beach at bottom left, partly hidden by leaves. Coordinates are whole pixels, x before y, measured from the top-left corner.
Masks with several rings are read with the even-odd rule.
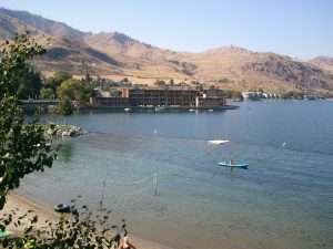
[[[9,212],[10,210],[17,209],[17,208],[20,210],[19,211],[20,214],[24,214],[28,210],[34,210],[39,216],[39,220],[41,221],[39,224],[43,224],[44,220],[57,221],[60,218],[60,214],[56,212],[50,207],[47,207],[40,203],[34,201],[31,198],[19,195],[14,191],[10,193],[7,196],[7,203],[4,205],[3,210],[1,210],[0,216],[2,216],[2,214]],[[21,232],[21,230],[19,228],[16,228],[14,226],[9,226],[8,230],[12,231],[13,235]],[[129,238],[130,238],[131,242],[138,249],[139,248],[141,248],[141,249],[172,249],[170,247],[159,245],[154,241],[149,241],[149,240],[142,239],[134,235],[129,235]]]

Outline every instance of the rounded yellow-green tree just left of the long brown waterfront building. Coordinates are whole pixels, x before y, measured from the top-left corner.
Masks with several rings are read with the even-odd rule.
[[[75,101],[80,105],[87,105],[89,97],[94,96],[95,92],[85,81],[70,79],[57,89],[57,94],[59,97]]]

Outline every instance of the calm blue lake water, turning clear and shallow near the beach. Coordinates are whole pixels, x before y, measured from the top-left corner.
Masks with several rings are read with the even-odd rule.
[[[130,234],[176,249],[332,248],[333,102],[239,105],[75,113],[67,123],[90,134],[62,139],[54,166],[19,191],[50,206],[82,195],[98,207],[104,180],[114,222],[125,218]],[[249,169],[218,165],[231,157]]]

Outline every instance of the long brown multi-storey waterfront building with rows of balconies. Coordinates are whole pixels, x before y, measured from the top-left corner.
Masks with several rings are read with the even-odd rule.
[[[127,87],[121,97],[93,97],[92,107],[193,107],[219,108],[225,105],[224,91],[219,89]]]

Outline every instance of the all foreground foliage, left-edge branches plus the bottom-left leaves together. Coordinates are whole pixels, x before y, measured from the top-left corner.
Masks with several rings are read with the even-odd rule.
[[[13,75],[26,66],[28,60],[46,50],[31,41],[28,33],[18,34],[13,42],[6,41],[4,46],[0,54],[0,210],[7,194],[19,187],[21,178],[51,167],[56,156],[43,128],[37,125],[37,121],[24,123],[20,102],[9,94]],[[1,248],[114,248],[113,245],[120,241],[120,232],[127,234],[124,224],[109,226],[110,212],[91,217],[87,206],[82,209],[82,216],[73,206],[71,217],[62,217],[58,224],[47,220],[38,226],[39,218],[31,210],[22,216],[17,210],[4,214],[0,218],[0,231],[11,224],[26,227],[22,235],[1,239]],[[107,232],[112,229],[113,234],[109,236]]]

